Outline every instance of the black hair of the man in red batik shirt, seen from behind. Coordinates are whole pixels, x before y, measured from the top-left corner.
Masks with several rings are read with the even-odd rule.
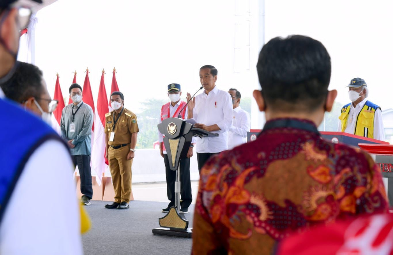
[[[331,60],[320,41],[275,37],[259,53],[257,72],[267,107],[312,112],[325,103]]]

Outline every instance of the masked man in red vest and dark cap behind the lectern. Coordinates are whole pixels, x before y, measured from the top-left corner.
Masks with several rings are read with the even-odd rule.
[[[187,119],[187,107],[184,107],[186,103],[180,100],[182,92],[180,91],[180,84],[172,83],[168,85],[168,97],[171,99],[170,102],[166,103],[161,107],[160,122],[164,119],[171,117],[180,117]],[[167,213],[169,208],[174,205],[174,181],[176,178],[176,171],[169,169],[169,160],[165,146],[163,143],[163,134],[158,131],[158,141],[160,142],[160,154],[164,158],[165,163],[165,174],[167,178],[167,195],[169,203],[168,207],[162,209],[163,213]],[[191,194],[191,180],[190,180],[190,158],[193,156],[193,143],[191,143],[188,149],[187,158],[181,158],[179,162],[180,167],[180,207],[182,207],[179,213],[188,213],[188,207],[193,201]]]

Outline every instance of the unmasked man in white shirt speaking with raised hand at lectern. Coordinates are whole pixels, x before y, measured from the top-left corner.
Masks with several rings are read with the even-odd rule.
[[[187,93],[188,119],[195,119],[195,128],[219,134],[215,137],[197,138],[196,157],[199,173],[204,163],[214,154],[228,150],[228,130],[232,125],[233,109],[230,94],[216,86],[218,71],[214,66],[205,65],[199,69],[202,94],[191,99]]]

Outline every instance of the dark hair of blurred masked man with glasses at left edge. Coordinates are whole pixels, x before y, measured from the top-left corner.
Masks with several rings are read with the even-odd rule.
[[[33,64],[17,61],[17,68],[11,78],[0,84],[4,94],[9,99],[23,103],[29,97],[41,97],[42,71]]]

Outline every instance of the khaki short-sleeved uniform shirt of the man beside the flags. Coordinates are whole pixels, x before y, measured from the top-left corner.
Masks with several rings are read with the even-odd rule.
[[[120,116],[118,116],[120,114]],[[110,132],[115,132],[113,141],[108,141],[108,145],[121,145],[131,143],[131,134],[139,132],[136,115],[124,108],[122,112],[116,114],[113,110],[105,114],[105,134],[110,138]],[[117,119],[114,127],[114,120]]]

